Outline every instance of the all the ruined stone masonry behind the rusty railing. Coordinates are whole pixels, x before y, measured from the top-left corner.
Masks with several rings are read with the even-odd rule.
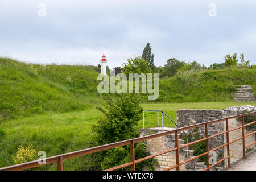
[[[182,109],[177,110],[177,125],[180,127],[195,125],[197,123],[203,123],[207,121],[212,121],[214,119],[220,119],[225,117],[231,117],[237,114],[243,114],[248,112],[256,111],[256,107],[254,106],[233,106],[228,107],[223,110],[216,109]],[[229,119],[229,130],[235,127],[241,126],[241,120],[238,118]],[[225,121],[213,123],[208,126],[208,134],[214,135],[217,133],[221,133],[226,130]],[[151,128],[151,129],[141,129],[140,137],[144,135],[152,134],[152,133],[160,133],[167,130],[174,130],[175,128]],[[188,131],[188,130],[187,130]],[[245,127],[245,135],[254,131],[253,129],[247,129]],[[191,132],[191,130],[189,131]],[[204,127],[199,127],[196,131],[201,135],[202,138],[205,137]],[[179,135],[180,136],[180,135]],[[229,133],[229,141],[242,137],[242,129],[234,130]],[[255,134],[250,135],[245,138],[245,145],[250,144],[255,141]],[[179,139],[179,144],[184,144],[184,140]],[[209,139],[209,150],[221,146],[226,143],[226,134],[218,135],[217,137]],[[164,150],[168,150],[175,147],[175,135],[166,135],[163,137],[158,137],[154,139],[147,140],[147,150],[151,154],[156,154],[158,152],[162,152]],[[255,145],[250,146],[252,150]],[[230,162],[236,162],[241,159],[243,156],[242,153],[242,140],[238,140],[230,144]],[[217,161],[226,157],[226,147],[222,147],[216,150],[216,153],[213,155],[216,156]],[[187,147],[184,147],[180,150],[180,162],[192,158],[194,155],[193,150],[189,150]],[[167,154],[156,156],[155,159],[159,162],[159,167],[155,166],[156,170],[164,170],[168,167],[174,166],[176,164],[176,154],[175,151],[168,152]],[[211,168],[211,170],[220,170],[227,166],[227,160],[221,162]],[[204,162],[200,162],[199,159],[192,160],[191,162],[185,163],[180,166],[180,170],[193,171],[193,170],[202,170],[206,167]],[[146,169],[146,168],[145,168]],[[176,168],[172,169],[176,170]]]

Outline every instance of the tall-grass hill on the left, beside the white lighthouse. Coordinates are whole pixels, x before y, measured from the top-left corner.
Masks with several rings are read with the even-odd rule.
[[[0,57],[0,122],[97,102],[96,67],[26,64]]]

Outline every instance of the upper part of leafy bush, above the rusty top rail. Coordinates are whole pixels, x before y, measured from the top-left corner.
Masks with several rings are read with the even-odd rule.
[[[93,126],[99,144],[137,137],[135,126],[142,119],[141,97],[137,94],[106,94],[104,107],[97,107],[105,117]]]

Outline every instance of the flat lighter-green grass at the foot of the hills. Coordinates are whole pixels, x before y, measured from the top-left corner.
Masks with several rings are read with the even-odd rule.
[[[176,121],[178,109],[224,109],[236,105],[253,105],[256,102],[195,102],[195,103],[158,103],[143,104],[144,110],[163,110]],[[89,109],[69,113],[46,113],[28,118],[12,119],[0,123],[3,131],[0,142],[0,167],[13,164],[11,154],[21,144],[31,143],[38,151],[46,151],[47,157],[81,150],[88,147],[93,139],[92,125],[102,114],[93,106]],[[145,114],[145,127],[157,126],[156,113]],[[160,123],[160,114],[159,114]],[[167,117],[163,117],[164,127],[174,127]],[[138,123],[138,130],[143,127],[143,120]],[[64,163],[65,169],[82,169],[81,159],[72,159]],[[44,169],[55,169],[47,165]]]

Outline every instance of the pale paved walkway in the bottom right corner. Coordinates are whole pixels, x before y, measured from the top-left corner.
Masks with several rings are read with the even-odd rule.
[[[256,150],[246,154],[246,159],[231,164],[231,167],[228,171],[256,171]]]

